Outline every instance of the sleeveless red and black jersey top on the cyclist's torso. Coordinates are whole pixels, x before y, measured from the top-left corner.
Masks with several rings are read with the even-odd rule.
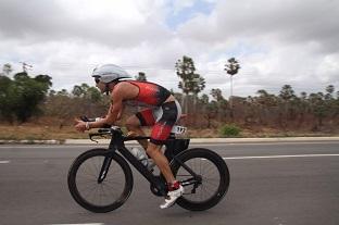
[[[156,84],[149,82],[125,80],[139,88],[138,96],[134,99],[150,105],[160,107],[171,96],[171,92]]]

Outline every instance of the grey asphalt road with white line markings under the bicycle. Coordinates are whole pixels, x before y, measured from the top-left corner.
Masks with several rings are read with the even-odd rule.
[[[128,201],[96,214],[66,185],[72,161],[89,146],[0,146],[0,224],[339,224],[338,141],[199,147],[219,153],[230,171],[228,193],[215,208],[160,210],[162,199],[134,171]]]

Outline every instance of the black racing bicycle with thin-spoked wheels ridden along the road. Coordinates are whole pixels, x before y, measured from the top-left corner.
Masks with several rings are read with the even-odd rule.
[[[185,192],[176,203],[190,211],[211,209],[228,190],[227,164],[209,149],[188,149],[190,139],[176,138],[176,134],[185,132],[186,127],[174,126],[174,129],[176,132],[165,142],[164,154],[171,162],[174,176],[185,186]],[[134,186],[133,173],[126,161],[150,183],[152,193],[166,196],[167,185],[162,174],[153,174],[125,147],[125,141],[150,137],[126,137],[117,126],[100,128],[89,134],[89,139],[97,141],[93,139],[96,136],[111,136],[109,148],[96,148],[81,153],[68,171],[68,189],[79,205],[95,213],[105,213],[122,207]]]

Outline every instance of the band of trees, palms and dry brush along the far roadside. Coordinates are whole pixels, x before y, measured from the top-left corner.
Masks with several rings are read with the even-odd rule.
[[[233,68],[230,65],[228,67]],[[234,66],[228,71],[236,74],[239,67]],[[197,73],[191,58],[183,57],[175,68],[180,78],[178,87],[181,92],[172,92],[181,102],[183,111],[188,113],[181,123],[194,132],[191,134],[193,136],[238,137],[240,132],[241,137],[339,134],[339,91],[332,85],[324,87],[323,91],[300,95],[290,85],[284,85],[278,95],[261,89],[254,96],[231,96],[226,99],[219,88],[211,89],[210,95],[201,95],[208,84],[203,75]],[[0,73],[0,124],[7,126],[7,130],[8,126],[14,124],[30,124],[50,127],[54,135],[63,133],[60,138],[86,137],[72,132],[74,118],[80,115],[101,116],[109,109],[109,97],[93,86],[75,84],[72,90],[55,91],[51,89],[52,79],[48,75],[12,72],[11,65],[5,64]],[[147,80],[147,75],[139,72],[136,78]],[[141,108],[127,105],[121,124],[136,110]],[[231,125],[223,127],[225,124]],[[14,136],[7,130],[2,136],[0,134],[0,139],[17,137],[15,129]],[[39,132],[39,138],[50,137],[47,136],[48,132],[37,129],[35,138]],[[27,138],[29,133],[32,130],[18,138]]]

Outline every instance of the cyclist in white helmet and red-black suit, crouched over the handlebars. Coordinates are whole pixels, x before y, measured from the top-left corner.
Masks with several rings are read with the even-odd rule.
[[[168,184],[168,193],[161,209],[168,208],[184,193],[184,187],[175,180],[166,157],[161,147],[170,136],[172,127],[180,117],[181,108],[177,100],[164,87],[148,83],[124,78],[130,78],[128,73],[114,64],[105,64],[93,70],[96,86],[102,93],[110,93],[111,105],[108,114],[96,122],[83,122],[76,120],[75,128],[85,132],[90,128],[100,128],[104,125],[113,125],[122,116],[123,105],[126,101],[146,103],[151,108],[138,112],[126,121],[129,135],[145,136],[141,126],[153,126],[150,141],[141,140],[140,145],[158,165]]]

